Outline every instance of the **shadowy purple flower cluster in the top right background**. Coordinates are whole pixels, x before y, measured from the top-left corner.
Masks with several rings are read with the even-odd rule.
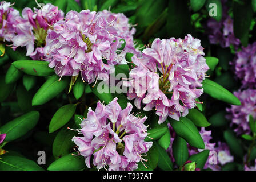
[[[235,38],[233,30],[233,19],[228,14],[228,7],[225,6],[226,0],[222,1],[222,19],[217,20],[210,18],[207,21],[208,37],[211,44],[220,44],[221,47],[229,47],[233,44],[239,46],[240,40]]]

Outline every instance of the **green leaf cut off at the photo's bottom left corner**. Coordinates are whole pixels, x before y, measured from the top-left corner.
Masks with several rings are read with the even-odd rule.
[[[33,160],[26,159],[22,156],[5,154],[1,156],[1,171],[43,171]]]

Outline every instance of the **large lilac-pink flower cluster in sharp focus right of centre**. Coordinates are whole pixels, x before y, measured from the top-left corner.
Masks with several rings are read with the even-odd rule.
[[[179,120],[203,93],[197,89],[209,69],[203,55],[200,40],[190,34],[185,39],[155,39],[151,48],[142,51],[142,57],[133,56],[137,67],[129,73],[131,80],[123,82],[129,87],[128,99],[135,98],[138,109],[141,102],[146,104],[145,111],[155,107],[158,123],[168,116]]]

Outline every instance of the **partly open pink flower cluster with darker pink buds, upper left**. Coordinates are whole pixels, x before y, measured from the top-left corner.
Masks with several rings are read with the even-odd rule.
[[[55,22],[64,18],[64,13],[57,6],[47,3],[41,9],[34,8],[34,11],[25,7],[22,17],[16,19],[17,35],[12,39],[13,49],[26,46],[26,56],[39,60],[43,57],[42,48],[46,44],[47,31]]]

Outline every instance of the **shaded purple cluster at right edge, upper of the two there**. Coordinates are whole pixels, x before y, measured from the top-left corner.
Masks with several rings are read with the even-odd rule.
[[[256,42],[235,53],[235,75],[242,81],[242,88],[256,87]]]

